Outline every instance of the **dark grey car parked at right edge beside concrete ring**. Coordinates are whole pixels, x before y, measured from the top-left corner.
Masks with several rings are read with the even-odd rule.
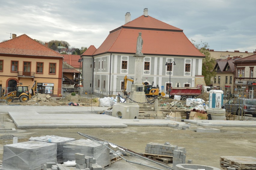
[[[222,109],[226,109],[227,112],[236,113],[239,115],[250,114],[256,117],[256,100],[255,99],[243,99],[233,98],[228,100],[227,103],[221,106]]]

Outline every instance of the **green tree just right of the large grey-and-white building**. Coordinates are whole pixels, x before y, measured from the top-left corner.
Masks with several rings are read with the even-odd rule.
[[[203,42],[202,46],[200,44],[196,44],[196,41],[191,39],[191,43],[194,44],[194,46],[203,54],[205,55],[205,58],[203,58],[202,62],[202,75],[204,76],[204,81],[206,85],[210,85],[211,83],[211,78],[216,75],[216,72],[213,70],[215,67],[215,58],[213,58],[207,50],[209,48],[208,43]]]

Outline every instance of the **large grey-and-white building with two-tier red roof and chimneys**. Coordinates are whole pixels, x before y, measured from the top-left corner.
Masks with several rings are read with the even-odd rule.
[[[188,40],[180,28],[166,24],[148,15],[130,21],[125,15],[125,24],[110,31],[101,46],[90,46],[81,57],[84,60],[84,89],[94,94],[117,94],[123,89],[124,76],[134,78],[136,43],[142,33],[144,84],[157,86],[161,91],[167,87],[196,87],[203,84],[202,60],[205,56]],[[175,64],[172,63],[175,61]],[[169,65],[166,64],[169,63]],[[153,84],[154,82],[154,84]],[[131,82],[127,85],[131,91]]]

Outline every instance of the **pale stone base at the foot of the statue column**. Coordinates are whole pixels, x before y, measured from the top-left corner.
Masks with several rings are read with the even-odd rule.
[[[131,91],[129,97],[132,100],[134,100],[136,102],[139,102],[139,103],[147,102],[146,95],[145,95],[145,92],[144,92],[144,85],[133,84],[132,85],[132,91]],[[131,101],[129,101],[129,102],[131,102]]]

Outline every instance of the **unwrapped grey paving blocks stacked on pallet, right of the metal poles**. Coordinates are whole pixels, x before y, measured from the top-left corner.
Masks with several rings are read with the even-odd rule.
[[[145,147],[145,153],[157,155],[174,156],[174,150],[183,151],[183,153],[186,154],[185,148],[171,145],[169,142],[165,144],[150,142]]]

